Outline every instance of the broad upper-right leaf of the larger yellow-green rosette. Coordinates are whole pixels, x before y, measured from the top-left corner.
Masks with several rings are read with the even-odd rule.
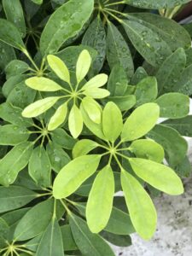
[[[160,107],[156,103],[146,103],[138,107],[126,119],[121,138],[134,141],[150,131],[160,117]]]

